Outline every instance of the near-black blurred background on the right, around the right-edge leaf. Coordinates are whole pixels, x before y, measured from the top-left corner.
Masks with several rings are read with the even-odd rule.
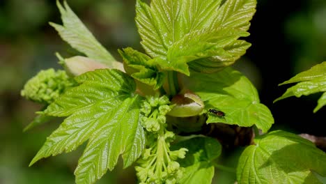
[[[326,108],[313,114],[321,93],[272,103],[289,87],[278,84],[326,61],[326,47],[322,47],[326,43],[325,29],[319,32],[313,29],[318,27],[318,13],[323,12],[325,7],[326,1],[319,0],[258,1],[249,29],[251,35],[246,39],[252,46],[246,56],[261,73],[261,89],[258,92],[261,102],[272,111],[275,119],[273,128],[326,136],[323,129]],[[325,17],[321,24],[325,26]],[[320,33],[318,38],[317,33]]]

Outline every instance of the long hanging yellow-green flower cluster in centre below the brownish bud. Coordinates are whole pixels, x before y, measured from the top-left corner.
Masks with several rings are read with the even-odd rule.
[[[147,142],[137,162],[139,166],[135,167],[141,184],[173,184],[183,177],[185,168],[180,167],[176,160],[185,158],[188,150],[180,148],[170,151],[170,143],[175,139],[174,133],[166,130],[165,115],[170,110],[169,98],[166,96],[148,97],[143,102],[141,125],[148,131]]]

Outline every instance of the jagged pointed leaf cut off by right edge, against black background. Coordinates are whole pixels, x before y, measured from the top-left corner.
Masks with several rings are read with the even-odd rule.
[[[292,77],[288,81],[283,82],[279,85],[290,84],[294,82],[298,83],[295,84],[295,86],[288,88],[286,92],[281,95],[281,97],[274,100],[274,102],[291,96],[296,96],[297,98],[299,98],[302,95],[326,92],[326,61],[316,66],[313,66],[309,70],[300,72],[299,74],[295,75],[295,77]],[[313,109],[313,112],[317,112],[318,109],[320,109],[326,104],[325,96],[325,93],[323,93],[323,95],[318,100],[317,107]]]

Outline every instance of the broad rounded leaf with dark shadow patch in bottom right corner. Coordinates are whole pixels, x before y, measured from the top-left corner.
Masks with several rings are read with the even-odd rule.
[[[326,153],[306,139],[284,131],[257,137],[238,162],[238,183],[321,183]]]

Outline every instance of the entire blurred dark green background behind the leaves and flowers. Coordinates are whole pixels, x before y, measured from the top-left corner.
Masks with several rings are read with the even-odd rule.
[[[68,0],[72,10],[100,43],[120,59],[116,50],[141,49],[134,24],[134,0]],[[23,128],[41,107],[20,97],[24,83],[39,70],[60,68],[54,55],[74,56],[48,22],[61,23],[54,0],[0,1],[0,183],[74,183],[73,171],[83,148],[40,160],[28,167],[46,137],[60,121],[28,132]],[[325,107],[316,114],[321,94],[272,101],[288,86],[277,86],[298,72],[326,61],[325,0],[258,0],[251,21],[252,43],[235,67],[257,87],[261,101],[275,118],[273,129],[326,136]],[[290,112],[293,109],[294,112]],[[239,151],[224,153],[226,164],[235,166]],[[132,168],[121,165],[98,183],[135,183]],[[234,183],[232,174],[217,170],[214,183]]]

